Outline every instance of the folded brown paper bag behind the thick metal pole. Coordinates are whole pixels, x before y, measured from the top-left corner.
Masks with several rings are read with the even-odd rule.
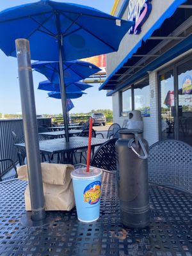
[[[42,163],[45,211],[70,211],[75,206],[70,164]],[[27,166],[17,168],[18,178],[28,180]],[[29,185],[25,191],[26,211],[31,211]]]

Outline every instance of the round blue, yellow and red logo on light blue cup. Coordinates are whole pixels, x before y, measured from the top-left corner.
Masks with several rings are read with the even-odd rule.
[[[88,204],[97,204],[97,202],[99,202],[100,199],[100,188],[100,181],[94,181],[88,186],[86,186],[83,193],[84,202]]]

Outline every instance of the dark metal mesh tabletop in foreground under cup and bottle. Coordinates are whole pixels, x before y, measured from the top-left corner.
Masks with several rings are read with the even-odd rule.
[[[190,194],[150,186],[151,221],[148,228],[131,230],[120,222],[115,175],[104,173],[100,218],[84,224],[76,209],[49,212],[51,224],[23,227],[26,182],[0,183],[1,256],[191,256],[192,198]]]

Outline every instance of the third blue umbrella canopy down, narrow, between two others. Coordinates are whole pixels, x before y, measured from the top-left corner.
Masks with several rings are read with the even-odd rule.
[[[84,91],[90,87],[93,86],[82,82],[71,83],[66,86],[66,92]],[[60,92],[60,84],[51,83],[49,80],[42,81],[38,84],[38,90]]]

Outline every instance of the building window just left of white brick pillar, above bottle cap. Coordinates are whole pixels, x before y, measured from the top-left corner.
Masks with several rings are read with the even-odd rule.
[[[140,110],[142,116],[150,116],[150,86],[148,77],[134,84],[134,109]]]

